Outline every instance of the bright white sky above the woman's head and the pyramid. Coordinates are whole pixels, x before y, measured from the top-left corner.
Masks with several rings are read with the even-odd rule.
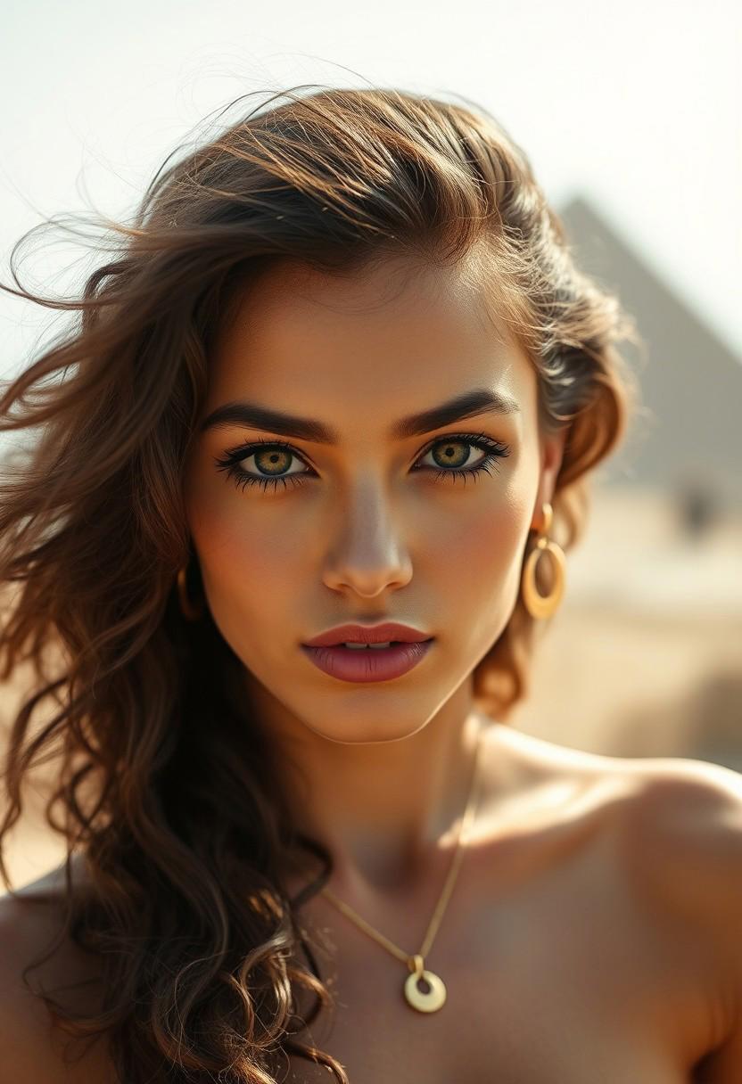
[[[742,22],[732,0],[25,0],[0,41],[0,276],[41,216],[129,215],[207,114],[246,91],[375,82],[460,94],[510,131],[559,208],[590,198],[742,357]],[[230,111],[229,118],[236,118]],[[51,234],[49,235],[51,237]],[[62,291],[79,248],[36,242]],[[49,242],[46,243],[49,245]],[[0,375],[53,313],[0,295]]]

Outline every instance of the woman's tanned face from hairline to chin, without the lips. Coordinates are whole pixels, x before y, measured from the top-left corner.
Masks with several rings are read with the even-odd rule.
[[[234,403],[305,420],[295,436],[208,425],[187,464],[207,604],[248,684],[336,741],[414,733],[506,627],[553,492],[563,440],[538,431],[530,362],[459,270],[389,261],[344,279],[273,267],[239,298],[209,363],[202,423]],[[500,408],[395,433],[475,390]],[[255,485],[219,468],[234,451]],[[434,637],[400,678],[342,681],[302,649],[336,624],[385,620]]]

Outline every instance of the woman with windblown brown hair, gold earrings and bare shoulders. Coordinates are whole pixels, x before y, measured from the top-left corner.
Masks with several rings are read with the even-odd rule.
[[[61,743],[68,859],[3,901],[0,1079],[739,1082],[739,775],[507,722],[630,322],[484,111],[284,98],[2,399],[2,836]]]

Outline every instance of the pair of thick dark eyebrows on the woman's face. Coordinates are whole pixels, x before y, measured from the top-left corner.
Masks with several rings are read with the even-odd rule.
[[[515,414],[520,410],[517,402],[509,395],[496,391],[494,388],[473,388],[437,406],[399,418],[392,425],[389,436],[396,440],[404,440],[407,437],[419,437],[475,414],[490,412]],[[250,402],[230,402],[217,406],[203,421],[200,431],[205,433],[207,429],[229,425],[247,425],[255,429],[266,429],[269,433],[279,433],[283,437],[294,437],[317,444],[340,443],[338,431],[323,422],[311,417],[297,417]]]

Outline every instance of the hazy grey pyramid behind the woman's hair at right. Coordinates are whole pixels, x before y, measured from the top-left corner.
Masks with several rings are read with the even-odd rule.
[[[742,363],[615,233],[591,204],[560,211],[578,266],[617,292],[647,343],[623,352],[645,413],[605,469],[605,480],[678,494],[690,520],[742,511]],[[679,229],[682,229],[680,223]]]

